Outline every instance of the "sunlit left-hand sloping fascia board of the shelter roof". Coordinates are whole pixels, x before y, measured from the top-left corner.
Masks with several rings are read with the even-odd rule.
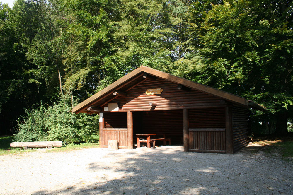
[[[127,75],[123,76],[122,78],[118,79],[117,81],[115,81],[114,83],[110,84],[108,87],[100,90],[98,93],[92,95],[91,97],[89,97],[88,99],[84,100],[83,102],[81,102],[79,105],[75,106],[74,108],[72,108],[72,113],[75,113],[81,109],[84,109],[86,106],[89,106],[91,104],[91,102],[98,100],[98,98],[100,98],[101,96],[109,93],[112,90],[115,90],[115,88],[117,88],[119,85],[123,84],[124,82],[128,81],[129,79],[131,79],[132,77],[136,76],[137,74],[142,72],[142,66],[135,69],[134,71],[128,73]]]

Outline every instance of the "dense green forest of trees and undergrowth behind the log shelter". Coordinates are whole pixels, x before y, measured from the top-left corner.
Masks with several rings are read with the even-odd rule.
[[[253,100],[254,133],[288,134],[292,28],[290,0],[0,3],[0,135],[86,141],[98,116],[71,108],[142,65]]]

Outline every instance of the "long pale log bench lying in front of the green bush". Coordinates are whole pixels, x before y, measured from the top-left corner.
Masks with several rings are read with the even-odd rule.
[[[28,142],[12,142],[10,147],[13,148],[52,148],[62,147],[62,141],[28,141]]]

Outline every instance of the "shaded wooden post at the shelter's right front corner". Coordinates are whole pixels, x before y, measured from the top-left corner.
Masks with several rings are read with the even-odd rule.
[[[226,154],[233,154],[232,107],[225,107]]]

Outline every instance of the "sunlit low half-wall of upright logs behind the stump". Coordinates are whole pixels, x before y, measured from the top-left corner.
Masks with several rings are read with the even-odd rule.
[[[127,129],[103,129],[103,147],[108,147],[108,140],[118,140],[119,148],[127,147]]]

